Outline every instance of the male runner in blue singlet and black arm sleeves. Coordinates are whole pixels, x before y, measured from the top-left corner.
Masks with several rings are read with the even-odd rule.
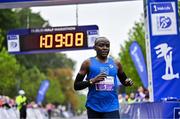
[[[89,119],[120,118],[117,77],[124,86],[132,86],[133,82],[126,76],[121,63],[108,57],[110,42],[106,37],[96,38],[94,49],[96,56],[82,63],[74,89],[89,88],[86,101]]]

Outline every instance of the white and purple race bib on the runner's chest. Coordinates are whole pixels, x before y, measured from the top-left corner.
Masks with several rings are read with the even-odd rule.
[[[98,91],[112,91],[114,87],[114,77],[107,76],[103,81],[95,83]]]

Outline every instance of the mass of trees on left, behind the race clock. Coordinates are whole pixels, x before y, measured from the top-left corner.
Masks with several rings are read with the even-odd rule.
[[[79,103],[76,103],[78,97],[72,89],[74,61],[61,53],[10,55],[6,51],[8,30],[47,26],[48,21],[29,8],[0,10],[0,94],[15,97],[19,89],[24,89],[28,100],[35,101],[41,81],[49,79],[45,103],[67,104],[70,101],[76,109]],[[68,70],[56,70],[61,68]],[[48,70],[54,75],[50,76]],[[56,75],[58,72],[60,75]]]

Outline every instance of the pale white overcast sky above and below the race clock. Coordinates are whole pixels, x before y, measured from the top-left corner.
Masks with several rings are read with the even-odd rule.
[[[77,6],[41,6],[32,7],[32,11],[39,12],[53,27],[74,26],[77,23],[78,25],[98,25],[99,35],[107,37],[111,42],[110,54],[118,58],[120,45],[124,45],[128,39],[129,30],[132,29],[135,22],[142,18],[143,0],[79,4]],[[77,74],[85,59],[96,55],[93,49],[62,53],[76,62],[74,75]]]

